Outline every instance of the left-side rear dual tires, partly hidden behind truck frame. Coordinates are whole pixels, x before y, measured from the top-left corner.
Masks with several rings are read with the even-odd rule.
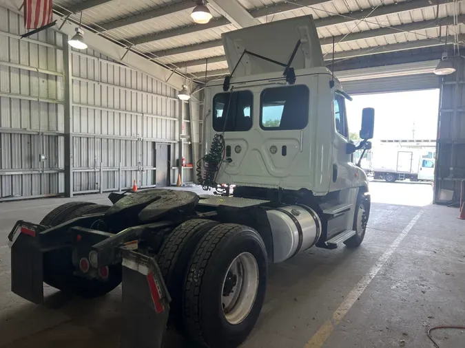
[[[41,224],[53,227],[84,214],[105,213],[108,208],[110,206],[91,202],[70,202],[48,213]],[[71,248],[52,250],[43,256],[43,281],[63,292],[94,298],[107,294],[121,283],[121,265],[109,266],[110,276],[107,281],[75,276],[74,270]]]

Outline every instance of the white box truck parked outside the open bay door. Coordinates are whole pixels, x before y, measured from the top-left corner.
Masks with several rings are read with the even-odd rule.
[[[431,152],[429,152],[431,153]],[[373,150],[375,180],[433,181],[435,160],[422,149],[380,146]]]

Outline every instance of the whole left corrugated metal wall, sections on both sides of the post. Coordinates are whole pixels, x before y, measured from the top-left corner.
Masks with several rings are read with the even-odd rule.
[[[46,30],[19,40],[24,32],[21,15],[0,7],[0,200],[65,191],[65,36]],[[73,193],[130,188],[133,180],[155,186],[156,143],[170,145],[176,183],[177,91],[91,49],[70,60]],[[183,148],[189,158],[188,142]]]

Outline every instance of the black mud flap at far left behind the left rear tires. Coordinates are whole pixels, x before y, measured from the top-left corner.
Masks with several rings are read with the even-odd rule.
[[[35,233],[22,232],[12,244],[11,291],[37,305],[43,303],[43,254]]]

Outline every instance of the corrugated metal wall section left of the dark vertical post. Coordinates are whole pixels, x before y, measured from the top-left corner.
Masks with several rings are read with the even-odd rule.
[[[0,199],[63,192],[63,36],[0,8]],[[41,160],[41,155],[45,156]]]

